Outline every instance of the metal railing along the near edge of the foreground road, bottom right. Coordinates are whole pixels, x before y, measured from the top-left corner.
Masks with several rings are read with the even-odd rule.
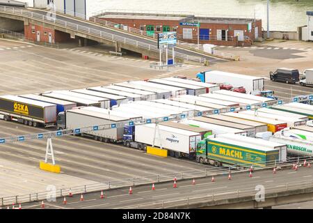
[[[292,182],[292,183],[284,183],[280,185],[280,187],[266,187],[265,190],[265,199],[266,194],[270,195],[276,193],[274,197],[277,197],[279,192],[286,191],[293,191],[293,190],[305,190],[305,189],[312,189],[313,187],[313,180],[306,180],[301,182]],[[255,187],[251,188],[243,188],[241,190],[229,190],[225,192],[216,192],[207,195],[201,196],[191,196],[185,197],[183,199],[169,199],[164,201],[156,201],[150,203],[142,203],[141,205],[137,206],[127,206],[123,207],[125,209],[163,209],[163,208],[175,208],[179,206],[190,206],[193,204],[198,203],[207,203],[207,202],[215,202],[215,201],[222,201],[225,199],[236,199],[241,197],[251,197],[252,200],[255,200],[256,194]]]

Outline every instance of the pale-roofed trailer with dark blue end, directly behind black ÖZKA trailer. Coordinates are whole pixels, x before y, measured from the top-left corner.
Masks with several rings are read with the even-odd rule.
[[[28,94],[28,95],[19,95],[22,98],[29,98],[31,100],[38,100],[40,102],[48,102],[51,104],[56,105],[56,113],[59,114],[60,112],[64,112],[66,110],[72,109],[73,107],[77,107],[75,102],[68,102],[66,100],[59,100],[56,98],[48,98],[40,95],[35,94]]]

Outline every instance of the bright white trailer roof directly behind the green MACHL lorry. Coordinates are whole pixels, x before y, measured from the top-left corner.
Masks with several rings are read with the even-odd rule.
[[[233,133],[233,134],[240,134],[243,136],[247,136],[248,132],[244,130],[239,130],[238,128],[229,128],[221,125],[206,123],[203,121],[196,121],[196,120],[182,120],[180,123],[192,125],[195,127],[200,128],[207,128],[209,130],[212,130],[212,134],[225,134],[225,133]]]

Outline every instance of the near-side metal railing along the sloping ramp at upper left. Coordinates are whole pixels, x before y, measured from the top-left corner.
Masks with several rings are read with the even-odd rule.
[[[46,24],[53,24],[55,26],[60,26],[62,28],[70,29],[72,31],[77,31],[80,33],[84,33],[90,36],[95,36],[96,38],[102,38],[106,40],[111,40],[111,41],[116,41],[119,43],[124,43],[124,44],[129,44],[129,45],[134,45],[138,48],[142,49],[148,49],[152,50],[154,52],[159,52],[159,49],[157,48],[156,45],[150,45],[147,43],[142,43],[141,41],[138,40],[132,40],[129,38],[117,36],[111,33],[107,33],[105,31],[99,31],[98,29],[93,29],[87,26],[82,26],[79,24],[74,24],[72,22],[66,22],[65,20],[59,20],[54,17],[48,17],[47,15],[41,15],[39,13],[34,13],[29,10],[23,10],[21,8],[11,8],[11,7],[6,7],[6,6],[0,6],[0,12],[1,13],[6,13],[10,15],[19,15],[22,17],[27,17],[33,20],[38,20],[40,22],[45,22]],[[163,49],[163,52],[166,52],[165,49]],[[168,54],[172,55],[172,52],[168,52]],[[175,56],[180,59],[184,59],[186,61],[194,61],[197,63],[205,63],[207,61],[203,57],[198,57],[198,56],[189,56],[187,54],[182,54],[179,52],[175,52]]]

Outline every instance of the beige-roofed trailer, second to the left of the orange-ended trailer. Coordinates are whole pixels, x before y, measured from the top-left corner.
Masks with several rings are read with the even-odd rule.
[[[243,130],[247,132],[248,137],[255,137],[255,134],[257,134],[256,128],[249,126],[249,125],[243,125],[239,123],[229,123],[228,121],[221,121],[221,120],[210,118],[210,117],[195,117],[193,118],[193,120]]]

